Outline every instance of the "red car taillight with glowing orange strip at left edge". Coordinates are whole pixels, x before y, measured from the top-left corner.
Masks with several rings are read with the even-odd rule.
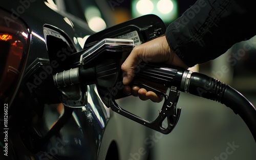
[[[0,9],[0,102],[8,103],[17,87],[28,36],[28,29],[21,20]]]

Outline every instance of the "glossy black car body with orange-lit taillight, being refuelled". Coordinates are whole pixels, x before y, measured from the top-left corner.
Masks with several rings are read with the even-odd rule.
[[[1,2],[1,127],[7,131],[1,139],[1,157],[146,159],[150,130],[113,113],[95,85],[53,85],[52,75],[68,69],[74,53],[95,33],[85,19],[58,8],[66,1],[56,1],[56,6],[54,2]],[[77,3],[71,5],[66,9]],[[113,24],[104,19],[106,26]],[[61,100],[80,107],[63,105]],[[129,101],[120,100],[126,105]]]

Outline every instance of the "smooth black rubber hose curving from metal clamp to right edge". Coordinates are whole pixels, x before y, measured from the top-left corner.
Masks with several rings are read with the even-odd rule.
[[[256,142],[256,109],[241,93],[215,78],[197,72],[191,74],[188,86],[190,94],[219,101],[232,109],[244,120]]]

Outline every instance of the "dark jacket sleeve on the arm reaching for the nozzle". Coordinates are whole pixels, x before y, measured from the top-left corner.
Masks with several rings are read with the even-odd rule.
[[[256,1],[199,0],[166,30],[170,48],[189,67],[256,35]]]

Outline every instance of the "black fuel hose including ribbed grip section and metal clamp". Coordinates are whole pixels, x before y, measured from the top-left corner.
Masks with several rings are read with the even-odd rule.
[[[218,101],[238,114],[246,123],[256,142],[256,109],[241,93],[218,79],[177,67],[148,63],[142,65],[137,77],[166,87],[177,87],[182,92]]]

